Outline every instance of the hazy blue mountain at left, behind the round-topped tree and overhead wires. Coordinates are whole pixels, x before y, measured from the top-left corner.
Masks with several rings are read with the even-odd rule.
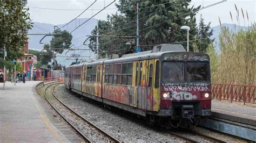
[[[86,20],[88,20],[88,18],[78,18],[76,20],[74,20],[73,22],[71,22],[70,24],[64,26],[63,28],[61,28],[61,30],[67,30],[69,32],[71,32],[72,30],[74,30],[76,27],[78,27],[78,25],[84,23]],[[72,45],[74,44],[73,47],[76,48],[87,48],[86,46],[82,45],[84,40],[87,39],[86,35],[91,35],[91,31],[95,28],[97,24],[97,19],[90,19],[88,22],[86,22],[85,24],[83,24],[82,26],[80,26],[79,28],[77,28],[76,31],[72,32]],[[65,24],[60,24],[60,25],[56,25],[58,27],[61,27]],[[29,30],[29,34],[38,34],[38,33],[52,33],[53,32],[53,26],[52,24],[46,24],[46,23],[38,23],[38,22],[34,22],[33,24],[33,28],[31,30]],[[50,40],[52,39],[51,36],[45,37],[42,40],[42,43],[44,44],[39,44],[39,41],[44,37],[44,35],[28,35],[29,37],[29,48],[30,49],[35,49],[37,51],[42,51],[44,44],[49,44]],[[57,62],[65,65],[65,66],[69,66],[72,62],[75,62],[75,58],[72,59],[67,59],[66,57],[63,57],[63,55],[65,55],[67,51],[64,51],[62,56],[58,56],[56,58]],[[82,53],[81,53],[82,52]],[[73,54],[73,51],[69,52],[70,54]],[[92,54],[92,52],[90,53],[90,51],[75,51],[75,54],[81,53],[82,56],[94,56]],[[79,60],[89,60],[89,57],[86,58],[79,58]]]

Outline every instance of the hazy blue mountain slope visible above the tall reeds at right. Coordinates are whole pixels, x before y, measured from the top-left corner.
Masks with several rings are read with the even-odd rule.
[[[234,28],[233,24],[227,24],[227,23],[221,24],[221,26],[227,27],[228,30],[230,30],[232,33],[238,32],[240,30],[244,31],[244,30],[248,29],[247,26],[239,26],[239,25],[235,25],[235,28]],[[220,53],[219,34],[220,34],[220,31],[221,31],[221,26],[218,25],[218,26],[212,27],[213,35],[212,35],[211,38],[212,39],[215,38],[215,40],[214,40],[214,47],[215,47],[217,53]]]

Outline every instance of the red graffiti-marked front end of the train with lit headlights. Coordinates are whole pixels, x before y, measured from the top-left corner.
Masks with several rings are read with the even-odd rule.
[[[161,55],[160,111],[171,127],[188,127],[211,116],[211,78],[208,55],[193,52]]]

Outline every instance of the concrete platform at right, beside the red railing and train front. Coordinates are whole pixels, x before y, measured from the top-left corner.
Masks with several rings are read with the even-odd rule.
[[[256,126],[256,105],[212,100],[212,116]]]

